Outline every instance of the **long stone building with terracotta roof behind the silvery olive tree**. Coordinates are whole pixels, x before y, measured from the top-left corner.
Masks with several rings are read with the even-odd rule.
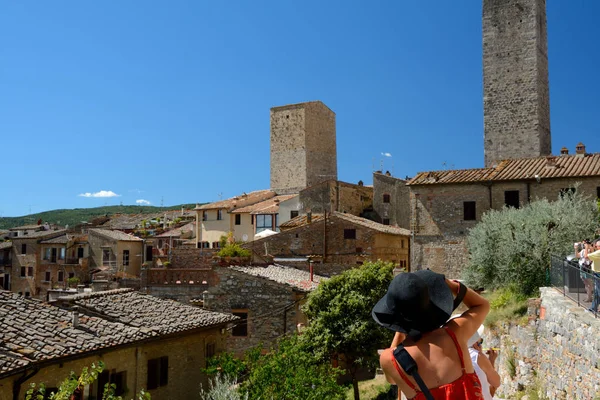
[[[496,167],[421,172],[410,189],[412,264],[458,277],[468,262],[466,236],[482,215],[574,190],[600,198],[600,153],[504,160]]]

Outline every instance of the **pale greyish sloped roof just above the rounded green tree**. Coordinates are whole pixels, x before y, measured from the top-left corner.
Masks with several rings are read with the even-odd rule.
[[[292,267],[283,265],[269,265],[268,267],[229,267],[235,271],[243,272],[248,275],[258,276],[269,279],[273,282],[289,285],[303,292],[310,292],[319,286],[321,281],[326,280],[324,276],[313,274],[313,281],[310,280],[310,273]]]

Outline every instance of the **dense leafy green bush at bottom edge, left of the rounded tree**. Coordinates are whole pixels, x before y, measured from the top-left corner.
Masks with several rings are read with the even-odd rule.
[[[276,349],[260,353],[260,348],[255,348],[246,357],[249,372],[241,392],[250,399],[344,398],[345,389],[336,381],[340,371],[307,351],[297,335],[283,337]]]

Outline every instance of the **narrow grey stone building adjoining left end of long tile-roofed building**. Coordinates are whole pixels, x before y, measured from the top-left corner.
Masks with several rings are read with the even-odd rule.
[[[374,220],[384,225],[410,229],[408,180],[393,177],[389,172],[373,173]]]

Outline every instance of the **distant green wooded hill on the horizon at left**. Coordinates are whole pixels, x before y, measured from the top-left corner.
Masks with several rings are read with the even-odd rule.
[[[0,229],[14,228],[15,226],[35,224],[38,220],[61,226],[75,226],[83,221],[88,222],[96,217],[114,214],[153,214],[167,210],[181,210],[181,207],[193,209],[196,204],[180,204],[170,207],[154,206],[104,206],[94,208],[73,208],[64,210],[44,211],[22,217],[0,217]]]

